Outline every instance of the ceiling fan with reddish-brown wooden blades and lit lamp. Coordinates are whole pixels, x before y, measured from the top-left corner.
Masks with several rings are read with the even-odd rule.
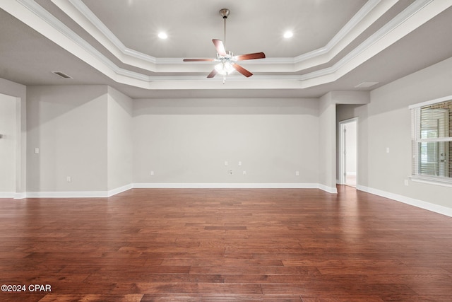
[[[227,76],[232,71],[239,71],[240,74],[243,74],[247,78],[249,76],[252,76],[250,71],[244,69],[244,67],[237,64],[237,61],[244,61],[249,59],[264,59],[266,57],[266,54],[263,52],[255,52],[252,54],[239,54],[238,56],[234,56],[232,52],[226,51],[225,45],[226,45],[226,19],[227,16],[229,16],[230,10],[227,8],[222,8],[220,10],[220,16],[222,16],[225,24],[225,42],[223,43],[222,40],[213,39],[213,45],[215,45],[215,49],[217,50],[217,57],[215,59],[184,59],[184,62],[202,62],[202,61],[208,61],[208,62],[218,62],[218,64],[215,65],[215,68],[213,71],[208,74],[208,78],[213,78],[216,74],[221,74],[222,76]],[[223,78],[224,79],[224,78]],[[224,81],[223,81],[224,83]]]

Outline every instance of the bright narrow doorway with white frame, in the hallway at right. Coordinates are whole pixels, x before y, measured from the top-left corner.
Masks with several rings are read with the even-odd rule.
[[[357,117],[339,122],[341,185],[357,186]]]

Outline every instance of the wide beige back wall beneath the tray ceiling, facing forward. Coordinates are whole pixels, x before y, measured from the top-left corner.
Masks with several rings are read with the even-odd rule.
[[[134,100],[133,105],[133,182],[319,182],[317,100]]]

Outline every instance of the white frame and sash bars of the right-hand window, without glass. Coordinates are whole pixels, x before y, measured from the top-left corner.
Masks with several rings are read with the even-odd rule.
[[[452,101],[452,95],[445,96],[443,98],[436,98],[434,100],[429,100],[427,102],[418,103],[415,105],[410,105],[409,108],[412,112],[412,145],[417,146],[417,144],[422,142],[429,142],[429,141],[452,141],[452,137],[441,137],[441,138],[434,138],[434,139],[421,139],[420,136],[420,108],[428,105],[434,105],[436,103],[444,103]],[[449,121],[451,122],[451,121]],[[412,147],[412,161],[417,161],[419,158],[420,153],[419,149]],[[449,154],[448,156],[452,156],[452,154]],[[412,165],[412,171],[410,179],[415,182],[424,182],[429,183],[432,185],[443,185],[447,187],[452,187],[452,175],[449,175],[449,177],[441,177],[441,176],[433,176],[433,175],[422,175],[419,174],[418,171],[415,171],[415,165]]]

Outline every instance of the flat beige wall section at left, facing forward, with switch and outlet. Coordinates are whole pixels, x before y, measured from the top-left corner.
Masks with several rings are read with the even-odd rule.
[[[28,192],[107,190],[107,86],[29,86],[27,115]]]

